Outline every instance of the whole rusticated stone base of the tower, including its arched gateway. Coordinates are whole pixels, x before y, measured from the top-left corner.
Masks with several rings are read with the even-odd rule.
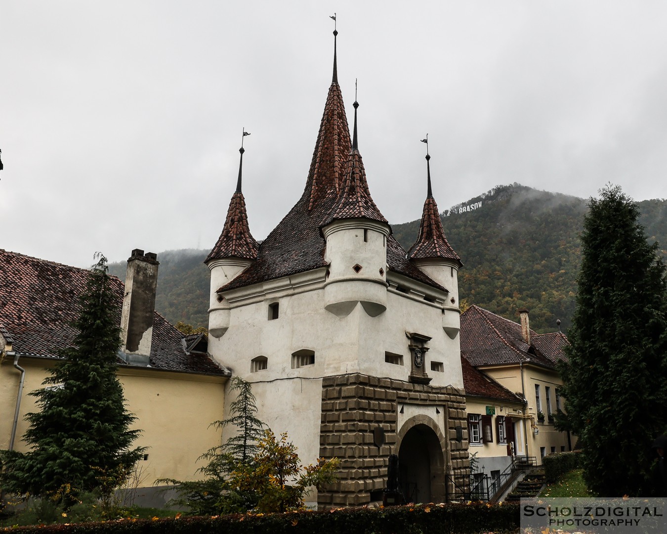
[[[382,501],[392,454],[399,456],[408,502],[446,502],[468,493],[462,390],[366,374],[328,376],[321,414],[319,455],[340,459],[340,478],[318,492],[319,507]]]

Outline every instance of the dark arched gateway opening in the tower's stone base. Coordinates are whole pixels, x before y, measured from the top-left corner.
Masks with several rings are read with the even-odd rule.
[[[426,415],[410,418],[398,433],[399,483],[414,503],[446,500],[446,441],[436,422]]]

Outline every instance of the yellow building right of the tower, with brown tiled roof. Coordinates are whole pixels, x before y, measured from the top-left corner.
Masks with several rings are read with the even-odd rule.
[[[522,421],[514,429],[516,456],[534,458],[540,465],[544,456],[571,451],[574,445],[569,433],[554,428],[554,414],[562,409],[558,387],[563,382],[557,364],[566,359],[563,346],[568,340],[560,331],[536,334],[530,330],[528,311],[520,310],[520,315],[521,322],[516,323],[479,306],[470,306],[461,316],[461,356],[506,390],[525,399],[521,406],[506,405],[503,413],[510,415],[512,421]],[[466,403],[473,453],[476,446],[484,443],[484,433],[489,432],[487,427],[492,423],[485,418],[489,407],[468,396]],[[496,404],[494,419],[502,415],[500,408]],[[480,430],[476,430],[476,425]]]

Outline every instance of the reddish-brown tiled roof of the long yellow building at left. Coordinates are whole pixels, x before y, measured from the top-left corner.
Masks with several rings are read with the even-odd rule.
[[[53,358],[60,348],[71,346],[76,336],[71,323],[79,315],[79,298],[87,276],[89,271],[85,269],[0,249],[0,323],[13,339],[12,350]],[[120,304],[125,286],[115,276],[110,278]],[[209,356],[186,354],[181,338],[181,332],[154,312],[151,367],[198,374],[229,374]]]

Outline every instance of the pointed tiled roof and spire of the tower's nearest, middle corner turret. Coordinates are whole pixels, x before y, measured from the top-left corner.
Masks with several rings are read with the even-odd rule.
[[[368,182],[366,182],[366,170],[364,162],[359,152],[357,136],[357,108],[359,103],[354,101],[354,139],[352,140],[352,150],[348,156],[345,174],[340,190],[340,195],[333,205],[329,216],[324,224],[328,224],[335,219],[354,219],[364,218],[374,221],[387,222],[384,215],[378,210],[378,206],[373,201]]]

